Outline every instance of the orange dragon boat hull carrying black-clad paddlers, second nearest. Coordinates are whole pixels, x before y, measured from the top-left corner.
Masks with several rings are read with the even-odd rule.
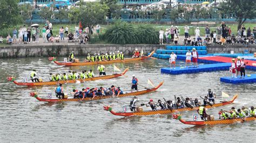
[[[225,102],[220,102],[220,103],[216,103],[216,104],[212,104],[212,106],[210,105],[206,105],[206,108],[215,108],[218,106],[224,106],[227,104],[231,104],[234,102],[234,100],[238,97],[238,95],[234,95],[233,98],[231,99],[231,101],[225,101]],[[197,110],[199,109],[199,107],[193,107],[193,108],[180,108],[180,109],[165,109],[165,110],[157,110],[157,111],[152,111],[152,110],[148,110],[148,111],[142,111],[142,112],[116,112],[114,110],[112,110],[111,106],[104,106],[104,110],[106,111],[110,111],[113,115],[116,116],[149,116],[149,115],[164,115],[164,114],[170,114],[170,113],[175,113],[175,112],[181,112],[181,111],[193,111],[193,110]]]

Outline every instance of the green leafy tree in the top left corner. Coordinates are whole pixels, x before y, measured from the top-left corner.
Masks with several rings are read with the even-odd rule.
[[[18,0],[0,1],[0,27],[8,28],[22,22],[19,15]]]

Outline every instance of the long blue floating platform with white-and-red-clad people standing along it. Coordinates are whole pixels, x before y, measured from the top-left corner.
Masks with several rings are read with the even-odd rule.
[[[230,63],[214,63],[210,65],[199,65],[198,68],[190,67],[176,67],[174,68],[161,68],[161,73],[178,75],[178,74],[191,74],[191,73],[200,73],[200,72],[210,72],[218,70],[229,70]]]

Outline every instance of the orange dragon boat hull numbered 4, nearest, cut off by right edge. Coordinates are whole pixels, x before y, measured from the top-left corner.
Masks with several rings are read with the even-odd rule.
[[[181,123],[187,125],[218,125],[218,124],[235,124],[244,123],[245,121],[253,121],[256,117],[245,117],[235,119],[216,119],[216,120],[198,120],[198,121],[186,121],[181,119],[180,115],[173,115],[174,119],[178,119]]]

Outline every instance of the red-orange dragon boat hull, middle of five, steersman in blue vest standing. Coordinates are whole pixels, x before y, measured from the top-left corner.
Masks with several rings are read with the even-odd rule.
[[[137,95],[143,95],[152,91],[156,91],[159,87],[161,87],[161,85],[163,85],[164,82],[160,82],[156,87],[151,88],[151,89],[145,89],[142,91],[136,91],[136,92],[129,92],[129,93],[125,93],[122,95],[119,95],[118,97],[125,97],[125,96],[137,96]],[[40,98],[37,95],[37,92],[31,92],[30,93],[31,97],[35,97],[36,99],[38,99],[38,101],[42,101],[42,102],[70,102],[70,101],[81,101],[82,99],[79,98],[66,98],[66,99],[58,99],[58,98]],[[91,98],[91,97],[85,97],[83,99],[83,101],[93,101],[93,100],[98,100],[98,99],[106,99],[106,98],[112,98],[112,96],[96,96],[95,98]]]

